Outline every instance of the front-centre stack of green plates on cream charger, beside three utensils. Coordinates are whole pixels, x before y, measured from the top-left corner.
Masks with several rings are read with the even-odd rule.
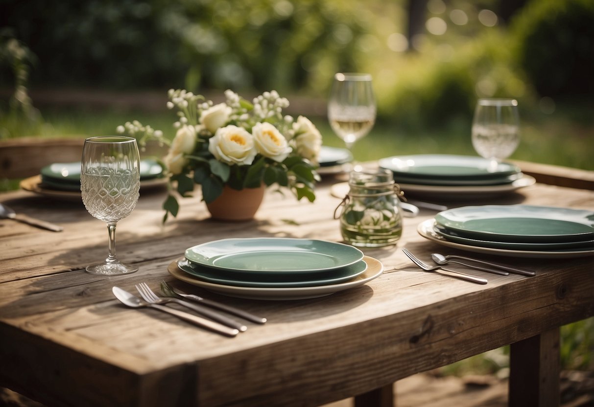
[[[182,281],[219,294],[301,300],[358,287],[383,272],[361,250],[325,240],[222,239],[189,247],[169,265]]]

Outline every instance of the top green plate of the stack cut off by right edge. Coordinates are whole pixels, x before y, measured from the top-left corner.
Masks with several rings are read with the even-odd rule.
[[[594,212],[533,205],[463,206],[435,221],[460,237],[511,243],[594,240]]]

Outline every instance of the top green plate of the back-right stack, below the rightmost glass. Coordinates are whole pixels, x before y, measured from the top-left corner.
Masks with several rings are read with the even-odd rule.
[[[490,170],[490,161],[472,155],[419,154],[382,158],[381,168],[394,176],[403,175],[415,179],[491,179],[520,173],[520,168],[509,163],[498,164]]]

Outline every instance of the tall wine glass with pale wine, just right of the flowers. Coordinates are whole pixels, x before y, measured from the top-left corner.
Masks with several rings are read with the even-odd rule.
[[[333,131],[352,154],[355,142],[375,123],[375,96],[369,74],[334,75],[328,100],[328,120]]]

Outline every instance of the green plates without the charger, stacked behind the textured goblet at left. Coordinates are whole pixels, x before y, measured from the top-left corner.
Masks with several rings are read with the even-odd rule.
[[[163,177],[163,167],[159,161],[144,159],[140,161],[140,182]],[[54,163],[41,169],[42,185],[49,189],[80,191],[80,162]]]

